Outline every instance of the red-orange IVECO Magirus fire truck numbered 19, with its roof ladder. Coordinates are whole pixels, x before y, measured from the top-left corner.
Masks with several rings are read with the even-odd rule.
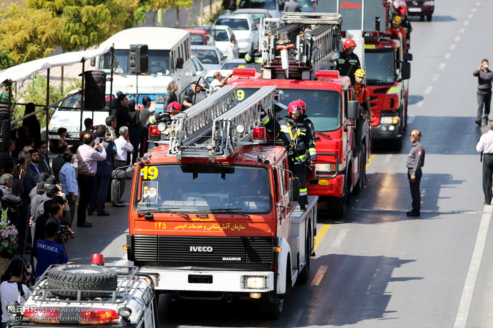
[[[276,118],[275,92],[264,87],[238,104],[236,87],[225,86],[149,127],[162,145],[137,160],[124,248],[157,292],[258,299],[277,319],[294,283],[308,281],[317,197],[300,211],[286,149],[266,139],[258,113]],[[113,178],[118,200],[125,171]]]

